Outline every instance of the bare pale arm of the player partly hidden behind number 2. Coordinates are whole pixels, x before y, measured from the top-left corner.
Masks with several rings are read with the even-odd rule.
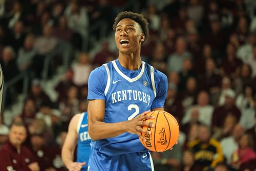
[[[76,114],[70,121],[69,130],[61,151],[63,163],[70,171],[79,171],[85,162],[74,162],[74,151],[77,144],[78,134],[76,131],[80,114]]]

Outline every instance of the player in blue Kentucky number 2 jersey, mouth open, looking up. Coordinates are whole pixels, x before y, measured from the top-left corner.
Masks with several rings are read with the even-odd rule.
[[[88,123],[92,149],[88,170],[154,170],[152,158],[139,140],[141,126],[154,127],[145,114],[163,110],[167,77],[141,60],[148,36],[143,15],[121,12],[113,29],[118,59],[91,72]]]

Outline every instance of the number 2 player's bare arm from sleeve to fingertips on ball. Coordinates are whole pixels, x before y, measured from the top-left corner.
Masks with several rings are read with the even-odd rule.
[[[131,134],[137,134],[143,140],[144,137],[141,136],[141,133],[144,132],[146,134],[151,134],[151,132],[144,131],[141,129],[141,126],[147,125],[150,127],[154,127],[154,125],[146,122],[146,119],[154,119],[151,116],[145,115],[150,111],[143,112],[137,117],[116,123],[105,123],[103,122],[104,118],[104,110],[105,110],[105,101],[104,100],[90,100],[88,104],[88,126],[89,126],[89,134],[90,137],[96,141],[98,139],[105,139],[118,136],[125,132],[129,132]]]

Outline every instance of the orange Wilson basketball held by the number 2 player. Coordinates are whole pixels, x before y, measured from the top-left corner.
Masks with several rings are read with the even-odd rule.
[[[155,116],[148,119],[155,127],[143,126],[143,130],[151,131],[151,135],[142,133],[146,142],[140,138],[140,142],[151,151],[164,152],[172,148],[179,138],[179,124],[175,117],[165,111],[152,111],[147,115]]]

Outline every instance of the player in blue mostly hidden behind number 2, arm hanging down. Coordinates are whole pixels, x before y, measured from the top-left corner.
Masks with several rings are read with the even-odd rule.
[[[69,123],[69,131],[61,151],[63,163],[70,171],[87,170],[91,151],[87,112],[76,114]],[[77,144],[77,160],[74,151]]]

